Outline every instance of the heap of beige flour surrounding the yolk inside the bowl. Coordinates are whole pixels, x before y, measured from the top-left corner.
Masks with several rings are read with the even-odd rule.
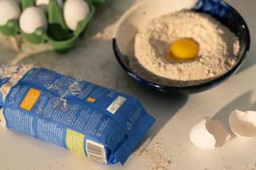
[[[172,42],[191,38],[199,43],[194,61],[171,62],[164,56]],[[237,62],[238,37],[208,14],[182,10],[150,20],[135,36],[133,71],[144,79],[167,86],[207,82]]]

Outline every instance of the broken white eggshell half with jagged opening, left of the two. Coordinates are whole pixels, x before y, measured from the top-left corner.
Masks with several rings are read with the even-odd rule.
[[[230,134],[220,121],[205,117],[193,126],[189,138],[197,147],[214,149],[223,146],[230,139]]]

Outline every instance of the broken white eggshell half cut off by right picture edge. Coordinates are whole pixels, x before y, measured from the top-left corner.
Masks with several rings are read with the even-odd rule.
[[[233,111],[229,116],[229,125],[238,137],[256,137],[256,112]]]

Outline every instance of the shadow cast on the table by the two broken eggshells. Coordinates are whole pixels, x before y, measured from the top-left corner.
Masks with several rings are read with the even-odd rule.
[[[236,137],[236,135],[232,132],[229,126],[229,115],[235,109],[239,109],[241,111],[249,111],[256,109],[256,101],[251,104],[251,96],[253,91],[247,91],[245,94],[238,96],[236,99],[231,101],[228,105],[218,111],[217,114],[212,118],[213,120],[218,120],[224,125],[226,130],[228,130],[231,135],[231,139]]]

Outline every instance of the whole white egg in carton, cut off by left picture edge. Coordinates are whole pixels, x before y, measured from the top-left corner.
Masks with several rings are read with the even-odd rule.
[[[10,19],[19,19],[20,8],[16,1],[0,1],[0,25],[6,25]]]

